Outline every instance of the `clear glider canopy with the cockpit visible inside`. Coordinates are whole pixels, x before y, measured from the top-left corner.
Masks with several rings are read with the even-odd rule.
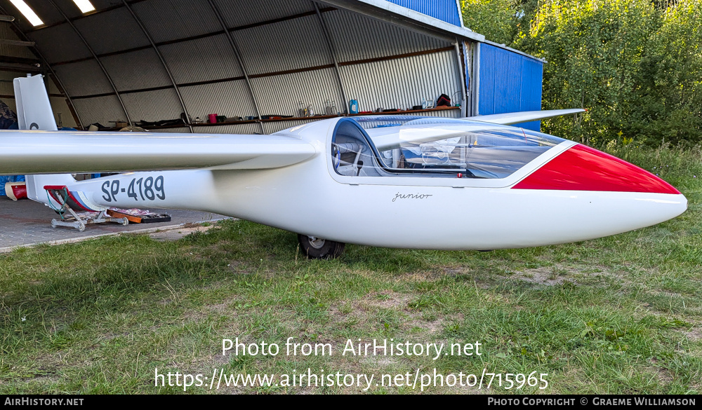
[[[348,177],[505,178],[563,141],[479,121],[360,116],[338,121],[331,159]]]

